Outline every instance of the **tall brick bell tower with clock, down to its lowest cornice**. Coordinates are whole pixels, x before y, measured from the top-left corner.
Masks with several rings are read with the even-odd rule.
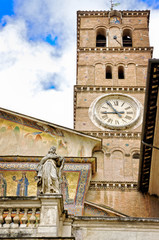
[[[137,182],[148,59],[146,11],[77,12],[74,128],[103,140],[94,180]]]

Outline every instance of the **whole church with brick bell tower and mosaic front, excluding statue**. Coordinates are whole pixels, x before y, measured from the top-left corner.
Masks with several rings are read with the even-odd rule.
[[[74,130],[0,109],[0,239],[159,238],[159,198],[138,186],[149,16],[77,12]],[[64,157],[60,194],[37,188],[52,146]]]

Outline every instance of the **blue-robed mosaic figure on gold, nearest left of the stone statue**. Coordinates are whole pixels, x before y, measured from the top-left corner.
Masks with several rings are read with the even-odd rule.
[[[28,196],[28,185],[29,181],[26,177],[26,173],[22,173],[22,178],[19,180],[16,180],[16,177],[13,177],[13,180],[17,182],[17,191],[16,196]]]

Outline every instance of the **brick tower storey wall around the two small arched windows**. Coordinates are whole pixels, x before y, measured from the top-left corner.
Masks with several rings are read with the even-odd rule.
[[[77,82],[79,85],[145,86],[151,52],[79,52]],[[106,66],[112,67],[112,79],[106,79]],[[118,79],[123,66],[124,79]]]

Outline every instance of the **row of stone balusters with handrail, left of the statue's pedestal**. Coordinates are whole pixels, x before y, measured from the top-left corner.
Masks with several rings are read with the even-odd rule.
[[[0,200],[0,228],[36,227],[40,217],[40,201],[36,198]]]

